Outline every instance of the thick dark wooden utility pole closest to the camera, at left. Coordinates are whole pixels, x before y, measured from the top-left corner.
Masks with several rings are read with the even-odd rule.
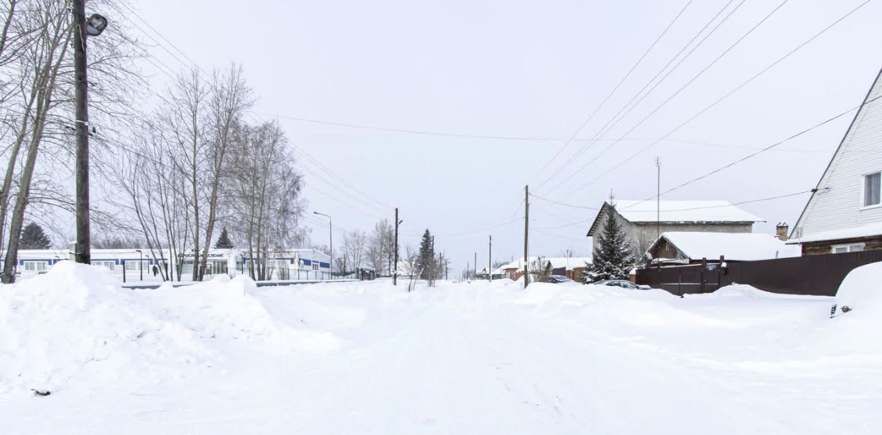
[[[89,236],[89,97],[86,77],[86,0],[73,0],[73,68],[76,87],[77,244],[78,263],[92,262]]]

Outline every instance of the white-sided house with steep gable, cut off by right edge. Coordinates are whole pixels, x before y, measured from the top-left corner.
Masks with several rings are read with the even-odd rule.
[[[877,75],[790,234],[803,255],[882,249],[880,97]]]

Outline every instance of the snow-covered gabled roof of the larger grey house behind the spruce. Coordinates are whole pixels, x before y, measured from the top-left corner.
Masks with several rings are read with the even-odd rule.
[[[642,201],[617,199],[614,204],[618,214],[635,223],[649,223],[656,221],[656,219],[665,223],[752,223],[763,221],[756,215],[724,200],[662,199],[661,203],[657,203],[654,199]],[[594,230],[601,224],[600,218],[603,211],[611,208],[611,205],[609,200],[603,202],[594,223],[591,224],[591,229],[588,230],[588,236],[594,235]]]

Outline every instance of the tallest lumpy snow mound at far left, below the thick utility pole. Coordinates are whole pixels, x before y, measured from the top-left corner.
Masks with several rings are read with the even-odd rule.
[[[144,379],[207,353],[187,328],[157,319],[102,267],[64,261],[0,287],[0,394],[54,391],[95,375]]]

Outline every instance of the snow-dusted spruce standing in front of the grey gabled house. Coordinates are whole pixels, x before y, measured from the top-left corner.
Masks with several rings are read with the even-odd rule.
[[[606,215],[599,247],[594,249],[592,265],[586,272],[588,281],[627,280],[634,266],[631,244],[624,236],[622,225],[616,219],[615,209]]]

